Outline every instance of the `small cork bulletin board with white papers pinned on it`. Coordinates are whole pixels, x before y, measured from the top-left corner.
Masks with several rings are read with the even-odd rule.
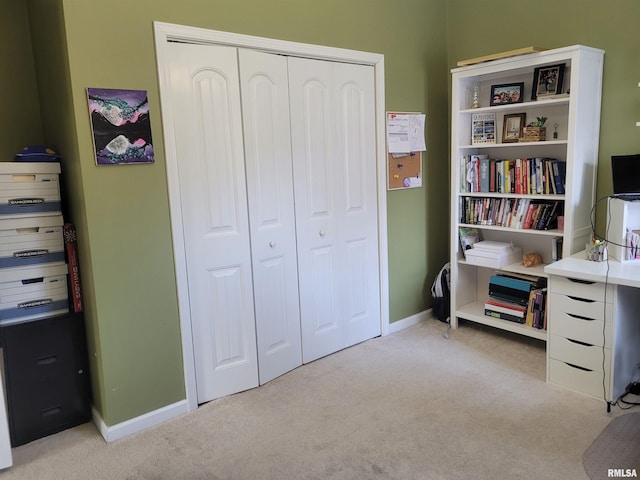
[[[387,112],[387,189],[422,187],[424,115]]]

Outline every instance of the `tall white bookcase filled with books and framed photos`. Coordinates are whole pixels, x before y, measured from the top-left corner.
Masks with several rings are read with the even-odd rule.
[[[556,245],[560,243],[562,245],[561,257],[568,257],[584,249],[585,243],[592,234],[590,213],[595,201],[603,56],[602,50],[577,45],[484,62],[451,71],[450,261],[451,326],[453,328],[457,328],[458,319],[464,319],[547,340],[546,330],[484,315],[484,304],[489,297],[490,278],[495,275],[496,269],[467,262],[461,250],[458,232],[461,227],[476,228],[481,240],[510,242],[515,247],[522,248],[523,253],[539,253],[542,256],[543,265],[525,268],[520,263],[515,263],[500,268],[503,272],[538,278],[547,277],[543,269],[554,260]],[[529,100],[534,88],[534,70],[559,64],[564,65],[562,94]],[[492,86],[519,83],[524,83],[525,101],[515,104],[489,105]],[[469,108],[473,91],[478,89],[480,107]],[[546,141],[502,142],[504,116],[522,113],[525,114],[525,123],[522,126],[528,125],[537,117],[547,117]],[[476,114],[495,114],[496,143],[472,144],[473,116]],[[480,116],[476,120],[484,122],[483,135],[487,138],[485,119]],[[502,170],[496,170],[495,166],[490,167],[489,171],[494,175],[489,178],[493,178],[495,183],[490,183],[489,188],[486,187],[487,183],[480,187],[479,178],[477,184],[466,185],[469,172],[467,160],[473,155],[488,157],[489,160],[496,162],[504,160],[517,162],[520,173],[515,175],[515,178],[521,181],[517,189],[518,193],[515,193],[513,182],[511,189],[509,189],[509,182],[501,183],[500,190],[496,188],[499,184],[498,171],[501,179],[505,178],[507,172],[509,172],[509,179],[514,176],[514,173],[504,167]],[[533,189],[534,181],[531,178],[536,164],[534,163],[532,169],[530,163],[532,159],[535,159],[534,162],[543,162],[542,166],[538,167],[542,174],[537,174],[538,178],[542,175],[542,188],[540,188],[541,184],[537,183],[535,190]],[[555,182],[553,185],[545,183],[550,178],[546,172],[551,171],[546,168],[546,165],[547,163],[550,166],[553,165],[553,161],[548,159],[562,162],[561,166],[565,167],[564,176],[558,177],[556,174],[555,177],[564,180],[562,182],[564,190],[556,188]],[[511,164],[502,165],[510,166]],[[486,172],[486,167],[484,168]],[[515,168],[513,171],[516,171]],[[529,176],[527,177],[523,172],[527,172]],[[486,182],[487,177],[483,178]],[[527,187],[522,188],[523,184]],[[482,199],[486,199],[484,206]],[[512,204],[523,199],[528,200],[528,204],[558,202],[557,212],[564,217],[564,225],[558,229],[552,219],[547,224],[550,224],[550,229],[537,230],[513,228],[513,225],[523,225],[518,222],[496,222],[496,218],[501,218],[499,214],[495,215],[496,204],[505,203],[503,199],[510,199]],[[498,211],[502,212],[502,210]],[[483,221],[485,224],[481,223]]]

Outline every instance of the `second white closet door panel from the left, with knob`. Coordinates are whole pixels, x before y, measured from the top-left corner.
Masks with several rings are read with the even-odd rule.
[[[287,60],[239,50],[260,383],[302,364]]]

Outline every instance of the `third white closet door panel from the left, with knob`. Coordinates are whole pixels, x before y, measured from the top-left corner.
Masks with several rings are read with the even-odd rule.
[[[331,62],[289,58],[303,361],[344,348]]]

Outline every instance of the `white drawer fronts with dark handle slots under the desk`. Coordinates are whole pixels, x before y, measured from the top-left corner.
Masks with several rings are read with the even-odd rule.
[[[613,287],[549,278],[547,380],[611,400]]]

